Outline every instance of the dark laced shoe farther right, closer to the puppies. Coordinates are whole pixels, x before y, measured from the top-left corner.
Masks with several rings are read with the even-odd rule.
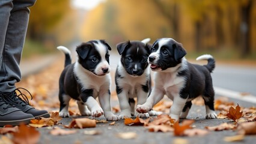
[[[25,94],[22,94],[20,89],[23,89],[29,93],[29,91],[24,88],[17,88],[13,92],[5,93],[5,100],[13,104],[15,107],[22,110],[23,112],[32,114],[35,118],[50,118],[50,114],[46,110],[37,110],[34,107],[29,106],[28,98]],[[19,95],[17,95],[16,91],[19,93]],[[29,93],[29,95],[31,94]],[[21,96],[23,100],[19,96]]]

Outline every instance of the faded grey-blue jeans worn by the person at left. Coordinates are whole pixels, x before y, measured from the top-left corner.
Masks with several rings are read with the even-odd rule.
[[[20,58],[29,9],[36,0],[0,0],[0,91],[11,92],[21,79]]]

